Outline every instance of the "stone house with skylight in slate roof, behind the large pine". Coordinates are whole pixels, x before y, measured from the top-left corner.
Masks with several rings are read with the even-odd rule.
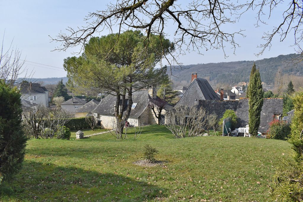
[[[112,128],[112,123],[115,121],[115,103],[116,103],[116,96],[114,95],[107,95],[103,98],[98,106],[92,110],[92,113],[98,120],[98,124],[104,128]],[[157,93],[155,86],[149,86],[148,90],[138,90],[132,93],[132,109],[130,116],[128,118],[128,122],[131,125],[138,126],[138,125],[149,125],[149,124],[156,124],[157,119],[149,108],[148,103],[149,99],[157,99]],[[126,103],[128,100],[126,100]],[[123,114],[126,111],[127,105],[124,106]],[[164,108],[167,109],[170,107],[166,105]],[[162,111],[162,114],[165,114],[165,109]],[[163,116],[164,119],[164,116]],[[164,121],[164,120],[161,120]]]

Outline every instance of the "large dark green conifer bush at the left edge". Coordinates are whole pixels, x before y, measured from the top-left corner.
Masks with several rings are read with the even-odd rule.
[[[17,88],[0,81],[0,184],[18,172],[25,154],[20,96]]]

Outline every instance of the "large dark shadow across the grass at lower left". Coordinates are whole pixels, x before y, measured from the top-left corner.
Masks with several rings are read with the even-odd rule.
[[[23,164],[16,179],[5,184],[13,191],[2,193],[0,201],[143,201],[167,197],[165,189],[122,173],[57,167],[34,161]]]

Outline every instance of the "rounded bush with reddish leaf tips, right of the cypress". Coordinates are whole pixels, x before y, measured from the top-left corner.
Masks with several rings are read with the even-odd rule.
[[[271,139],[287,140],[290,134],[290,125],[275,119],[269,124],[268,132]]]

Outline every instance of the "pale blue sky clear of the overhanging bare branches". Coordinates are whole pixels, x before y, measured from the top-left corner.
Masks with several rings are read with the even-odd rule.
[[[67,27],[77,27],[85,25],[84,17],[89,12],[106,9],[109,0],[102,1],[78,1],[78,0],[0,0],[0,39],[4,35],[4,49],[12,45],[22,51],[22,59],[26,60],[24,68],[32,72],[33,78],[64,77],[66,72],[63,68],[63,59],[74,56],[80,47],[70,48],[67,51],[53,51],[60,45],[51,42],[61,31],[64,32]],[[186,4],[186,1],[177,1]],[[189,2],[189,1],[188,1]],[[256,12],[245,13],[242,18],[233,25],[226,26],[227,31],[236,31],[244,29],[246,37],[236,36],[235,40],[241,46],[233,50],[227,49],[228,57],[225,58],[222,50],[202,49],[202,53],[195,51],[185,52],[185,55],[179,57],[178,62],[183,65],[210,63],[210,62],[231,62],[239,60],[258,60],[263,58],[276,57],[294,53],[293,35],[290,35],[284,42],[280,42],[279,37],[275,37],[271,49],[267,49],[261,56],[255,56],[260,51],[258,45],[264,42],[262,34],[270,31],[272,26],[281,22],[281,10],[277,8],[272,14],[268,25],[255,27]],[[280,11],[280,12],[279,12]],[[168,28],[174,30],[174,25],[168,23]],[[100,33],[108,34],[108,31]],[[94,36],[98,36],[95,34]],[[77,56],[77,55],[76,55]]]

